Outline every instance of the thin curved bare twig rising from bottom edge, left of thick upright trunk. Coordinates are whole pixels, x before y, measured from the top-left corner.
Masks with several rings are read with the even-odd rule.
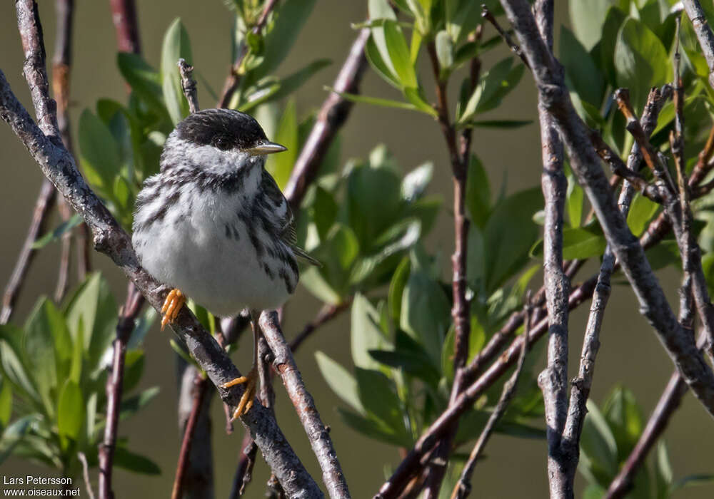
[[[528,336],[530,332],[528,331],[528,326],[531,324],[531,304],[528,302],[530,296],[526,299],[526,306],[523,307],[523,341],[521,346],[521,355],[518,357],[518,364],[516,365],[516,371],[513,371],[511,378],[503,384],[503,391],[501,391],[501,398],[498,399],[496,408],[493,409],[491,416],[488,418],[486,426],[483,427],[481,435],[478,436],[476,445],[473,446],[473,451],[471,455],[468,456],[468,461],[463,465],[463,470],[461,471],[461,477],[459,477],[456,486],[453,488],[451,493],[451,499],[466,499],[469,493],[471,493],[471,475],[473,475],[473,468],[476,467],[476,461],[481,457],[483,449],[488,443],[488,439],[491,438],[493,430],[496,428],[496,423],[501,419],[503,413],[506,412],[508,404],[511,403],[511,398],[513,394],[516,393],[516,386],[518,384],[518,377],[521,376],[523,371],[523,366],[526,364],[526,351],[528,351]]]

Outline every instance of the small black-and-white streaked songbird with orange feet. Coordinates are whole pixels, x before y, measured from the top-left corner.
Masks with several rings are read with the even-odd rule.
[[[174,321],[186,297],[218,316],[248,308],[253,321],[253,367],[233,418],[250,410],[256,391],[258,314],[280,307],[298,282],[293,214],[270,173],[272,143],[250,115],[201,110],[166,139],[161,171],[136,197],[132,242],[139,262],[173,289],[161,327]]]

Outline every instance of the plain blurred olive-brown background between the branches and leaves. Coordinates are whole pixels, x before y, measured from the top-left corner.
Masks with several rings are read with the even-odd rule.
[[[54,45],[54,2],[39,2],[48,57]],[[204,82],[218,92],[231,63],[230,33],[232,19],[220,0],[206,0],[200,4],[190,0],[139,1],[138,14],[144,57],[158,66],[161,39],[171,21],[181,17],[188,29],[193,46],[193,62],[198,78],[199,102],[203,108],[213,106],[213,98]],[[556,26],[568,24],[566,7],[556,6]],[[316,58],[329,58],[332,65],[311,78],[296,94],[298,113],[317,108],[326,98],[323,86],[331,85],[338,72],[356,31],[351,23],[366,19],[366,2],[318,0],[313,14],[301,32],[278,74],[287,74],[303,67]],[[493,31],[487,28],[488,36]],[[558,29],[555,31],[556,43]],[[0,6],[0,68],[11,86],[28,107],[31,106],[26,84],[21,76],[22,51],[16,31],[14,6],[4,2]],[[506,55],[501,46],[488,53],[484,67]],[[74,57],[71,69],[70,117],[76,125],[81,110],[93,108],[99,98],[113,98],[124,102],[126,87],[116,67],[116,39],[111,22],[108,1],[76,2],[74,28]],[[422,68],[423,73],[428,68]],[[427,95],[432,98],[430,78]],[[369,68],[362,84],[362,92],[369,96],[395,98],[395,91],[381,81]],[[516,91],[513,91],[495,113],[486,118],[535,120],[517,130],[476,129],[473,150],[483,161],[494,190],[506,182],[506,192],[540,185],[540,140],[536,117],[533,81],[526,74]],[[442,268],[448,269],[448,255],[453,251],[451,211],[451,170],[446,148],[438,123],[425,115],[407,110],[391,110],[358,104],[343,128],[343,162],[348,158],[366,157],[377,144],[386,144],[403,170],[407,171],[426,160],[435,164],[430,192],[443,197],[446,210],[441,211],[436,229],[427,240],[429,249],[442,254]],[[0,164],[3,181],[0,182],[0,284],[8,281],[16,256],[26,235],[42,175],[8,127],[0,127]],[[59,222],[51,220],[49,227]],[[487,249],[488,250],[488,249]],[[59,245],[47,247],[31,268],[29,279],[16,309],[16,321],[26,317],[39,294],[51,294],[56,283]],[[124,300],[126,281],[106,257],[97,254],[95,265],[109,279],[117,301]],[[590,264],[580,272],[588,276],[595,269]],[[660,279],[670,299],[676,297],[679,276],[665,270]],[[578,280],[578,279],[576,279]],[[533,279],[537,288],[542,279]],[[298,288],[296,296],[286,309],[283,330],[288,338],[300,331],[306,321],[313,318],[320,304],[304,289]],[[615,286],[610,299],[601,336],[602,348],[598,355],[596,376],[591,397],[602,401],[613,386],[620,382],[632,389],[645,416],[655,405],[672,372],[672,364],[650,330],[645,319],[637,312],[633,293],[626,286]],[[582,334],[588,307],[583,305],[570,319],[570,373],[577,369]],[[176,428],[176,379],[174,377],[174,352],[169,347],[170,330],[152,329],[145,340],[146,369],[143,386],[160,386],[161,393],[139,417],[122,422],[119,436],[130,439],[134,451],[150,456],[161,466],[158,477],[136,475],[116,470],[115,492],[119,498],[161,497],[169,494],[180,445]],[[345,426],[334,408],[341,401],[328,389],[319,373],[314,352],[321,350],[343,364],[350,364],[349,315],[343,314],[311,337],[296,356],[306,386],[313,394],[323,421],[331,426],[331,436],[341,460],[353,497],[371,497],[384,480],[384,464],[396,465],[399,456],[393,447],[355,433]],[[250,365],[251,339],[243,336],[241,348],[234,356],[240,369]],[[543,366],[540,359],[538,364]],[[303,429],[296,418],[290,401],[276,383],[278,395],[276,416],[288,440],[296,448],[303,463],[316,479],[320,476],[318,465],[308,445]],[[214,400],[213,445],[215,450],[216,497],[226,497],[240,453],[242,428],[237,427],[231,436],[223,429],[223,409]],[[675,478],[690,473],[712,473],[714,458],[714,431],[711,420],[688,393],[682,407],[673,417],[665,439],[670,444],[670,458]],[[476,468],[473,486],[483,498],[546,497],[548,494],[545,473],[545,441],[516,439],[496,435],[486,448],[487,458]],[[26,462],[11,458],[2,465],[2,475],[47,475],[52,473]],[[267,467],[258,459],[253,484],[248,497],[259,497],[268,477]],[[583,478],[578,476],[578,490]],[[679,497],[712,497],[712,488],[692,488],[679,493]]]

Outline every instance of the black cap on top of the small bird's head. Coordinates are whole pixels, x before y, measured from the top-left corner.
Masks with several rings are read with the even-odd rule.
[[[178,138],[222,150],[250,149],[266,142],[265,132],[253,116],[232,109],[204,109],[176,125]]]

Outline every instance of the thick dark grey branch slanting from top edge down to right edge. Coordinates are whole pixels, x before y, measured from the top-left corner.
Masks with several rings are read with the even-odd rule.
[[[538,34],[525,0],[501,0],[531,67],[540,98],[553,115],[568,150],[570,166],[595,208],[608,243],[640,302],[640,311],[657,332],[670,358],[701,403],[714,416],[714,373],[696,349],[694,339],[682,329],[668,304],[642,246],[617,210],[610,184],[598,156],[587,140],[585,124],[570,102],[558,62]],[[640,145],[641,147],[641,145]]]

